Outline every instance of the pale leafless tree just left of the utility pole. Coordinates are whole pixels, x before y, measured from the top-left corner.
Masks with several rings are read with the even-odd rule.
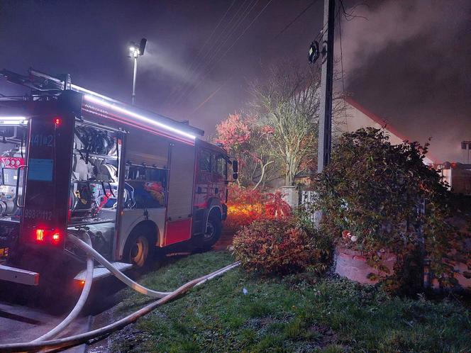
[[[262,84],[253,84],[253,108],[272,128],[269,139],[273,154],[284,167],[284,184],[294,184],[294,177],[316,162],[318,71],[299,67],[272,67]]]

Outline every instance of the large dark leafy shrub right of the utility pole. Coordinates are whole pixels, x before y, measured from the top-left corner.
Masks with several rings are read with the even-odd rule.
[[[397,255],[395,277],[379,278],[392,287],[420,290],[424,259],[442,286],[453,285],[453,268],[443,258],[452,252],[465,257],[462,235],[448,223],[453,196],[423,164],[427,149],[417,142],[392,145],[375,128],[345,133],[314,182],[314,208],[323,211],[322,227],[337,244],[363,252],[383,271],[378,254]]]

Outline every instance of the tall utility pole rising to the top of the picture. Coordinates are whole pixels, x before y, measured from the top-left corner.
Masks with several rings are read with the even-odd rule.
[[[321,112],[319,114],[317,172],[321,173],[331,159],[332,93],[333,93],[333,30],[336,20],[336,0],[324,0],[322,33]]]

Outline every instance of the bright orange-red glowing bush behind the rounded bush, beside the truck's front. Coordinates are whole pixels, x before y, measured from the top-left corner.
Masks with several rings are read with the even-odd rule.
[[[257,189],[231,186],[228,200],[228,217],[225,227],[233,231],[254,220],[285,218],[291,214],[291,207],[282,199],[282,194],[263,193]]]

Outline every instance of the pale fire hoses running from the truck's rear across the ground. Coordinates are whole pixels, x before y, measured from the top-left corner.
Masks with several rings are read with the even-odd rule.
[[[43,349],[60,349],[60,348],[65,348],[65,347],[73,347],[78,344],[89,342],[89,340],[92,340],[97,337],[102,337],[104,335],[108,335],[109,333],[115,330],[119,330],[125,327],[126,325],[134,323],[136,320],[138,320],[138,318],[150,313],[150,311],[157,308],[157,306],[161,306],[162,304],[165,304],[168,301],[171,301],[177,296],[180,296],[181,294],[189,291],[190,288],[193,288],[194,286],[199,286],[203,284],[204,282],[209,281],[210,279],[214,279],[215,277],[220,276],[224,272],[229,271],[230,269],[233,269],[234,267],[238,267],[238,265],[240,264],[240,262],[235,262],[226,267],[223,267],[214,272],[211,272],[210,274],[206,274],[206,276],[199,277],[198,279],[193,279],[192,281],[187,282],[186,284],[180,286],[179,288],[175,289],[172,292],[158,292],[158,291],[153,291],[149,288],[145,288],[144,286],[141,286],[140,284],[137,284],[135,281],[128,278],[128,276],[123,274],[121,271],[118,271],[117,269],[115,269],[113,265],[110,264],[98,252],[96,252],[96,250],[94,250],[91,245],[87,244],[87,242],[89,242],[89,239],[87,239],[87,242],[84,242],[83,240],[80,240],[74,235],[69,235],[67,239],[73,242],[74,245],[77,245],[82,250],[87,252],[87,274],[86,274],[84,288],[79,297],[79,301],[77,301],[77,304],[72,309],[70,314],[67,315],[67,318],[62,320],[62,322],[59,325],[57,325],[54,329],[45,333],[45,335],[38,337],[36,340],[33,340],[32,342],[0,344],[0,352],[35,352],[35,351],[43,350]],[[106,269],[109,269],[109,271],[111,271],[111,274],[115,275],[118,279],[120,279],[120,281],[123,281],[123,283],[129,286],[130,288],[133,288],[135,291],[138,291],[139,293],[143,293],[152,298],[160,298],[160,299],[158,301],[148,304],[147,306],[145,306],[144,308],[141,308],[140,310],[135,311],[131,315],[128,315],[125,318],[122,318],[116,321],[115,323],[111,323],[104,327],[100,327],[96,330],[92,330],[89,332],[84,332],[79,335],[73,335],[70,337],[63,337],[56,340],[50,340],[52,337],[55,337],[60,332],[62,332],[62,330],[64,330],[65,327],[67,327],[67,325],[69,325],[72,322],[72,320],[74,320],[74,318],[77,317],[80,310],[82,310],[84,303],[87,301],[89,291],[90,291],[90,288],[92,286],[92,281],[93,281],[92,257],[94,257],[98,262],[100,262],[104,267],[106,267]],[[91,267],[90,267],[90,264],[91,264]]]

